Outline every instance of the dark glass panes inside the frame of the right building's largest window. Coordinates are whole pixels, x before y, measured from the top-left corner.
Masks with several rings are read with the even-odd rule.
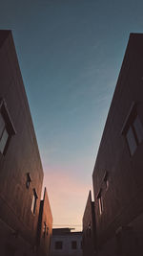
[[[133,122],[130,124],[129,128],[127,129],[125,136],[126,136],[130,153],[131,155],[133,155],[134,151],[136,151],[137,149],[137,146],[143,140],[143,127],[137,115],[135,116],[135,118],[133,119]]]

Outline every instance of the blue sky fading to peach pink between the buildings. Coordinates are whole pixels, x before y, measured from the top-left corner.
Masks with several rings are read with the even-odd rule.
[[[53,227],[81,230],[92,171],[142,0],[1,0],[45,173]],[[93,198],[92,198],[93,199]]]

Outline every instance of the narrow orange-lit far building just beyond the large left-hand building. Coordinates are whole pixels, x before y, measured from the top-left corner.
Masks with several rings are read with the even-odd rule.
[[[51,205],[48,198],[47,190],[45,188],[44,197],[40,202],[40,212],[38,221],[37,244],[38,255],[50,255],[52,235],[52,215]]]

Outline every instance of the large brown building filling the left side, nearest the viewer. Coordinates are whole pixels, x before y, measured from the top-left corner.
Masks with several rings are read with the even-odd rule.
[[[43,169],[12,35],[0,31],[0,255],[36,255],[42,183]]]

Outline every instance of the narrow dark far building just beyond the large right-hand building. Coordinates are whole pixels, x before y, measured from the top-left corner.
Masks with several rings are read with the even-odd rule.
[[[96,255],[95,212],[90,191],[83,216],[83,256]]]

